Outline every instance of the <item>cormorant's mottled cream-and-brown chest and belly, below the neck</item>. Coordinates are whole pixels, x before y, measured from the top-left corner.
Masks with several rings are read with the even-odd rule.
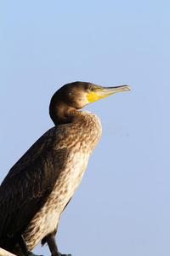
[[[90,124],[93,125],[87,123],[84,129],[76,126],[71,130],[71,134],[68,131],[65,133],[68,134],[68,140],[60,140],[61,143],[58,144],[59,148],[65,148],[66,142],[69,153],[65,160],[65,167],[58,170],[59,176],[48,200],[37,212],[25,232],[26,243],[30,249],[35,247],[44,236],[57,230],[60,214],[82,180],[88,158],[101,136],[99,119],[95,115],[90,116],[89,119]],[[32,236],[34,240],[31,239]]]

